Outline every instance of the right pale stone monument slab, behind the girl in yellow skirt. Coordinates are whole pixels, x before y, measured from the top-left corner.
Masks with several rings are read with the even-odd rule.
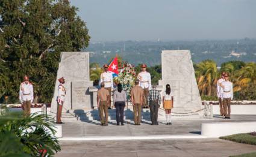
[[[196,83],[190,50],[163,50],[161,52],[162,80],[165,89],[170,84],[174,95],[173,112],[193,113],[202,116],[201,97]]]

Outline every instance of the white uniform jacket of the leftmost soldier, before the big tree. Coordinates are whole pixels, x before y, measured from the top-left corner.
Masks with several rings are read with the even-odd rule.
[[[19,100],[22,101],[31,101],[33,102],[34,92],[32,83],[26,84],[25,82],[20,83],[19,87]]]

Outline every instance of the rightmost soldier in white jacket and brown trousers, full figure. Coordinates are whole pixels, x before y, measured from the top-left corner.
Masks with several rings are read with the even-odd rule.
[[[228,81],[228,74],[225,74],[225,81],[222,81],[222,83],[220,83],[220,86],[220,93],[222,95],[222,101],[224,106],[223,114],[226,119],[230,119],[230,103],[233,99],[233,83],[231,83],[231,81]]]

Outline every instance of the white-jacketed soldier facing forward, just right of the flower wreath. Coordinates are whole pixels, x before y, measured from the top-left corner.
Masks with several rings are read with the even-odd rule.
[[[142,87],[144,96],[143,96],[143,105],[148,107],[148,93],[151,89],[151,75],[146,71],[146,64],[142,64],[142,71],[138,74],[137,79],[140,80],[139,86]]]

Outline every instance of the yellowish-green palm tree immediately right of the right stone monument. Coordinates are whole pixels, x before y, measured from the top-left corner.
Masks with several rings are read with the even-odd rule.
[[[201,95],[213,95],[217,83],[217,65],[214,61],[202,61],[195,66],[195,75]]]

